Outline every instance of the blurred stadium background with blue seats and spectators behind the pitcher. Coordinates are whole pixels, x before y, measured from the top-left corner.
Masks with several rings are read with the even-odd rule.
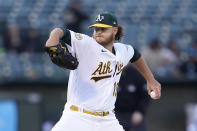
[[[0,131],[47,131],[60,118],[69,71],[53,65],[43,47],[54,27],[72,19],[71,2],[0,0]],[[197,1],[80,2],[89,17],[81,32],[91,35],[87,27],[99,12],[114,13],[125,29],[122,42],[151,59],[163,89],[150,102],[149,131],[197,131]]]

